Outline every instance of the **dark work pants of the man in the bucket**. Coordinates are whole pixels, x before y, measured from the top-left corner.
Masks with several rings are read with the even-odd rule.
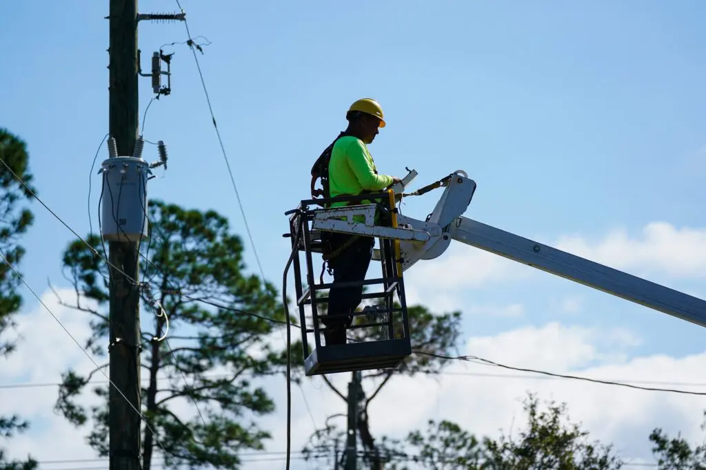
[[[332,233],[330,235],[331,248],[337,249],[351,236],[344,233]],[[333,271],[333,282],[347,283],[364,280],[373,257],[373,246],[375,246],[373,237],[358,237],[352,245],[328,261],[328,266]],[[321,322],[327,326],[324,331],[326,345],[345,344],[346,328],[353,321],[352,314],[359,306],[362,295],[362,285],[332,287],[329,290],[328,314],[342,314],[342,316],[322,317]]]

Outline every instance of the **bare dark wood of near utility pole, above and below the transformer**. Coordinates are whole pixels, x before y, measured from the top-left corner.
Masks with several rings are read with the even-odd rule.
[[[139,106],[137,0],[110,0],[109,9],[109,133],[119,155],[132,155]],[[108,395],[110,470],[140,470],[142,439],[136,412],[141,410],[138,244],[111,241],[109,251],[109,357],[114,384]]]

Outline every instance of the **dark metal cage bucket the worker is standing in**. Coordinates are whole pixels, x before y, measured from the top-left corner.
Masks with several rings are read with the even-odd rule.
[[[369,194],[368,198],[377,198],[383,204],[385,212],[390,214],[389,227],[397,228],[395,197],[392,191],[381,194]],[[375,261],[381,263],[380,278],[365,279],[350,283],[317,283],[323,276],[321,268],[314,267],[313,254],[321,253],[321,231],[313,230],[313,221],[317,216],[325,214],[327,209],[311,209],[311,206],[324,206],[337,199],[307,199],[302,200],[296,211],[290,211],[290,233],[283,236],[297,240],[301,230],[299,243],[296,247],[299,256],[294,256],[294,286],[297,291],[297,307],[301,322],[301,340],[304,349],[304,369],[307,376],[350,372],[374,369],[391,369],[399,366],[410,354],[412,345],[409,338],[409,319],[405,300],[405,285],[402,279],[400,264],[400,242],[389,237],[378,238],[379,249],[376,250]],[[353,208],[351,208],[353,209]],[[330,211],[330,209],[328,209]],[[304,260],[301,260],[304,254]],[[303,261],[303,262],[302,262]],[[320,264],[316,263],[318,266]],[[303,272],[304,271],[304,272]],[[306,287],[305,287],[306,286]],[[371,329],[373,333],[366,335],[375,340],[348,340],[343,345],[322,344],[319,321],[325,314],[321,313],[321,304],[328,304],[328,297],[318,295],[320,291],[332,287],[376,287],[376,292],[364,292],[362,299],[377,300],[376,307],[366,307],[354,312],[354,321],[347,328],[349,332],[359,329]],[[322,292],[323,293],[323,292]],[[305,307],[311,308],[311,317],[307,318]],[[355,321],[365,318],[368,321]],[[309,328],[307,328],[309,326]],[[309,347],[309,338],[313,334],[313,347]]]

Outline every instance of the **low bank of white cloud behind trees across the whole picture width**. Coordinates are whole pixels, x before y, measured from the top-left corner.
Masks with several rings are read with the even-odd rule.
[[[85,314],[57,306],[52,295],[44,295],[44,299],[66,328],[83,341],[88,335]],[[483,309],[479,309],[482,313]],[[500,310],[503,309],[517,311],[518,307]],[[492,310],[486,307],[486,311]],[[0,371],[3,383],[58,382],[61,371],[68,365],[80,371],[92,368],[76,344],[45,311],[34,309],[21,316],[19,328],[25,341]],[[299,332],[293,330],[292,334],[297,338]],[[281,341],[279,333],[270,338],[273,343]],[[468,338],[466,352],[510,366],[614,381],[706,382],[706,352],[681,358],[655,355],[626,359],[631,355],[630,349],[640,341],[627,330],[548,323],[541,328],[517,328],[498,335]],[[469,372],[479,375],[463,375]],[[496,377],[498,374],[505,377]],[[330,376],[343,393],[349,378],[345,373]],[[277,412],[260,423],[273,433],[273,439],[267,443],[268,452],[282,452],[286,443],[284,378],[269,378],[265,386],[276,400]],[[685,385],[674,387],[688,388]],[[345,402],[328,390],[321,377],[306,378],[302,389],[292,386],[292,452],[295,457],[313,431],[314,423],[322,426],[325,416],[345,413],[346,409]],[[85,430],[76,430],[52,412],[56,388],[19,390],[21,392],[0,390],[5,395],[0,400],[0,413],[18,412],[32,420],[32,430],[27,435],[10,441],[8,450],[12,456],[23,457],[31,452],[40,460],[95,458],[85,444]],[[626,457],[649,461],[647,436],[654,426],[662,426],[671,433],[682,431],[691,440],[701,438],[698,425],[702,409],[706,408],[706,397],[552,380],[462,361],[453,363],[448,374],[438,378],[398,377],[390,381],[369,409],[373,435],[401,437],[411,429],[424,427],[429,418],[453,419],[469,431],[484,435],[496,435],[499,428],[508,430],[515,419],[516,431],[522,416],[520,399],[527,390],[538,392],[541,398],[568,402],[573,419],[582,421],[594,438],[614,443]],[[179,414],[196,414],[193,404],[186,400],[174,404]],[[336,418],[333,422],[345,426],[344,419]],[[282,454],[248,459],[279,457]],[[282,464],[273,460],[247,462],[246,468],[271,468],[273,463]],[[305,462],[292,461],[292,469],[304,468],[307,468]]]

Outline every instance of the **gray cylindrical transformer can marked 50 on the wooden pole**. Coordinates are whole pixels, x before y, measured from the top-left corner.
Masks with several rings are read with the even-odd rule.
[[[114,156],[102,163],[101,224],[104,240],[139,242],[148,236],[149,163],[134,156]]]

